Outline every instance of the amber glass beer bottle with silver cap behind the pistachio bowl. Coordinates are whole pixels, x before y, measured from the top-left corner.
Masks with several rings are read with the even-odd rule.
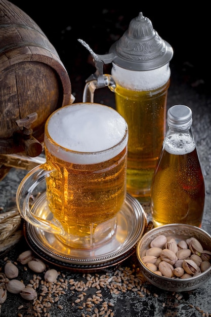
[[[153,224],[185,223],[200,227],[205,186],[191,131],[191,109],[186,105],[171,107],[167,112],[167,125],[152,177]]]

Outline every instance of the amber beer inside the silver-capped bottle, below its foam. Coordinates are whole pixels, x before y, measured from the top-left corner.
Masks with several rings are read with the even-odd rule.
[[[188,138],[186,142],[188,146]],[[186,223],[200,227],[204,196],[204,179],[195,145],[183,154],[164,147],[152,179],[154,225]]]

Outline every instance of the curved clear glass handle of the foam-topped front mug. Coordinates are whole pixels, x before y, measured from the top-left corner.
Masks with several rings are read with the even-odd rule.
[[[53,218],[48,220],[41,218],[32,213],[30,209],[29,200],[33,190],[44,181],[50,173],[51,171],[45,170],[45,164],[41,164],[26,174],[18,186],[16,204],[21,217],[31,225],[50,233],[64,234],[64,229],[57,219]]]

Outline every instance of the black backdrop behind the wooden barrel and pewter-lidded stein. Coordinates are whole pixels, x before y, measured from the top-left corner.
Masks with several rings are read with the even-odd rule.
[[[208,2],[69,2],[13,0],[43,30],[65,65],[76,101],[81,101],[85,80],[95,72],[89,52],[77,41],[86,41],[97,54],[110,46],[143,12],[154,29],[174,49],[172,76],[179,76],[199,92],[209,93],[210,14]],[[190,5],[188,5],[188,3]],[[109,72],[111,65],[105,66]]]

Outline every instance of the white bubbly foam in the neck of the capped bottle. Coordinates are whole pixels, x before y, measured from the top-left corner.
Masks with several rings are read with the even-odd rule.
[[[189,134],[176,133],[165,139],[164,149],[170,154],[184,155],[195,149],[195,142]]]

